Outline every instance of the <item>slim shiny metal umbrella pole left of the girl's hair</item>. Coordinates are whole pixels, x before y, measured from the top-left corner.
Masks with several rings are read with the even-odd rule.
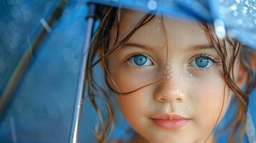
[[[79,127],[80,127],[80,118],[82,113],[82,99],[83,94],[85,93],[85,67],[86,67],[86,59],[87,59],[87,51],[90,46],[90,40],[93,35],[93,26],[95,22],[95,11],[96,11],[96,4],[91,2],[87,3],[88,5],[88,14],[86,16],[87,20],[87,27],[85,33],[85,41],[84,47],[82,52],[82,62],[80,68],[80,77],[77,87],[77,93],[75,97],[75,107],[73,111],[72,117],[72,127],[70,131],[70,143],[77,143],[78,135],[79,135]]]

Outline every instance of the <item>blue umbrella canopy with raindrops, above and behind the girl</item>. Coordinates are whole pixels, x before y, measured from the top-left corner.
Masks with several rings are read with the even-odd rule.
[[[33,41],[42,29],[47,31],[37,51],[31,52],[32,61],[24,71],[8,108],[4,112],[0,123],[0,142],[68,142],[72,124],[72,112],[75,104],[75,93],[80,72],[83,42],[85,39],[87,5],[85,1],[0,1],[0,91],[4,92],[7,82],[14,73],[16,65],[27,49],[33,46]],[[171,14],[187,19],[194,16],[209,22],[220,19],[225,29],[233,30],[233,36],[244,44],[255,47],[255,5],[245,10],[245,2],[237,2],[237,8],[222,1],[204,3],[203,1],[186,1],[181,3],[156,1],[95,1],[99,4],[123,6],[140,10],[161,9],[164,14]],[[232,1],[231,1],[232,2]],[[249,1],[250,2],[250,1]],[[251,2],[255,4],[254,1]],[[194,6],[191,6],[193,4]],[[49,24],[54,11],[62,6],[60,18]],[[221,11],[221,6],[237,9],[241,21],[231,23],[229,19],[236,19],[237,13],[230,16],[229,11]],[[175,10],[170,10],[169,7]],[[254,8],[253,8],[254,7]],[[245,8],[244,8],[245,9]],[[252,12],[250,12],[252,10]],[[202,12],[203,11],[203,12]],[[184,12],[186,14],[184,15]],[[243,12],[243,13],[241,13]],[[228,18],[227,18],[228,17]],[[249,18],[250,19],[249,19]],[[218,24],[217,24],[218,26]],[[222,25],[221,25],[222,26]],[[240,28],[239,28],[240,27]],[[237,35],[239,32],[241,34]],[[98,68],[98,69],[97,69]],[[100,67],[95,71],[102,77]],[[103,80],[103,78],[99,79]],[[255,92],[253,94],[256,94]],[[256,97],[250,97],[250,110],[256,109]],[[250,114],[251,113],[251,114]],[[232,114],[232,107],[229,108]],[[223,123],[229,119],[224,117]],[[125,138],[128,124],[121,115],[120,123],[115,126],[112,138]],[[256,114],[249,112],[252,117],[250,125],[256,123]],[[80,124],[79,142],[93,142],[93,129],[96,112],[85,99]],[[222,126],[220,124],[219,127]],[[252,129],[253,130],[253,129]],[[227,139],[225,134],[218,138],[219,142]],[[247,137],[245,137],[247,142]]]

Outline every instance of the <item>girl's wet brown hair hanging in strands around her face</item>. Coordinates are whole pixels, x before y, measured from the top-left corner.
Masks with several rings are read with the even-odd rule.
[[[95,31],[93,41],[90,44],[90,49],[87,56],[85,82],[87,86],[86,98],[88,97],[90,99],[90,102],[93,104],[93,107],[98,113],[98,117],[100,119],[100,131],[98,128],[96,128],[95,134],[98,142],[105,142],[108,138],[108,129],[112,129],[114,123],[113,99],[110,96],[110,92],[108,92],[109,89],[103,89],[97,84],[93,67],[96,64],[101,63],[106,78],[106,75],[108,75],[108,55],[125,44],[125,42],[128,41],[128,39],[130,39],[131,36],[133,36],[133,34],[141,28],[141,26],[147,24],[148,21],[151,21],[155,14],[145,14],[145,16],[143,16],[138,24],[136,24],[133,30],[127,36],[125,36],[125,38],[118,41],[118,29],[120,27],[120,16],[122,10],[120,8],[111,6],[100,6],[99,9],[100,11],[98,11],[98,18],[100,19],[100,26],[98,26],[97,31]],[[237,132],[240,132],[240,137],[245,134],[245,122],[249,95],[252,92],[252,89],[256,87],[255,69],[252,69],[250,57],[252,56],[251,54],[256,54],[256,51],[249,46],[242,45],[240,41],[232,39],[229,36],[227,36],[225,39],[218,39],[211,24],[204,21],[200,21],[200,24],[202,25],[202,29],[206,31],[209,41],[211,42],[215,51],[217,51],[217,54],[219,54],[220,58],[222,59],[224,81],[229,89],[231,89],[234,93],[235,99],[237,99],[237,112],[234,114],[234,117],[228,124],[232,125],[232,132],[229,137],[229,142],[234,142]],[[114,36],[112,32],[114,26],[116,26],[117,29],[115,33],[115,44],[110,48],[110,39],[111,36]],[[230,58],[227,57],[227,44],[232,47],[232,56]],[[98,57],[98,59],[96,59],[96,57]],[[247,72],[247,77],[245,79],[245,90],[240,89],[234,79],[234,64],[238,58],[240,58],[240,63]],[[107,109],[107,115],[105,117],[106,119],[103,119],[103,112],[96,102],[97,97],[100,97],[105,102],[105,109]],[[217,125],[217,122],[215,125]]]

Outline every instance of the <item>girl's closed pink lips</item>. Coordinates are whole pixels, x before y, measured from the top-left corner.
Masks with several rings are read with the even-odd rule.
[[[182,117],[179,114],[158,114],[150,119],[156,126],[164,129],[178,129],[190,121],[190,118]]]

